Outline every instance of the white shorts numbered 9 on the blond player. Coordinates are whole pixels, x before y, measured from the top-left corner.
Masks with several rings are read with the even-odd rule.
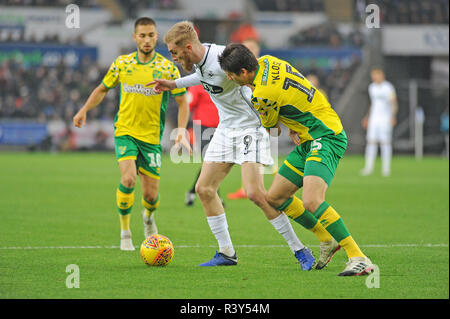
[[[245,162],[272,165],[269,134],[262,126],[217,128],[203,160],[238,165]]]

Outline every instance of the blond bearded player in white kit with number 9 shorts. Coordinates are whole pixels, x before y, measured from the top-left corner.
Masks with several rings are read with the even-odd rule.
[[[195,68],[195,73],[177,81],[156,79],[147,85],[154,85],[153,89],[158,93],[202,84],[217,106],[220,118],[196,185],[219,251],[200,266],[237,264],[225,210],[217,189],[233,165],[238,164],[242,166],[242,183],[248,198],[261,208],[274,228],[285,238],[301,268],[310,270],[315,263],[311,250],[298,239],[288,217],[270,206],[265,199],[263,165],[273,163],[269,135],[261,126],[256,111],[244,99],[244,95],[247,95],[250,100],[251,89],[240,87],[229,80],[220,68],[218,56],[225,46],[202,44],[189,21],[176,23],[166,33],[164,42],[172,59],[181,63],[187,71]]]

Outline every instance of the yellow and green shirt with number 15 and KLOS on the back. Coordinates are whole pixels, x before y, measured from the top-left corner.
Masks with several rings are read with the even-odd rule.
[[[300,143],[343,130],[325,96],[288,62],[265,55],[258,64],[251,101],[264,127],[280,122],[298,133]]]

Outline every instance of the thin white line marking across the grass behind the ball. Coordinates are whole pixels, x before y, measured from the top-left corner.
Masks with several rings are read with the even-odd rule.
[[[309,247],[319,247],[319,245],[308,245]],[[396,248],[396,247],[448,247],[448,244],[367,244],[360,245],[365,248]],[[139,248],[140,246],[135,246]],[[217,245],[175,245],[175,248],[214,248]],[[286,245],[235,245],[236,248],[283,248]],[[118,249],[116,245],[96,245],[96,246],[10,246],[0,247],[0,250],[43,250],[43,249]]]

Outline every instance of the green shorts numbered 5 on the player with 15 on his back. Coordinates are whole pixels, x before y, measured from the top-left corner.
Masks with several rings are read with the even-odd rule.
[[[346,148],[344,131],[307,141],[289,153],[278,174],[298,187],[303,186],[303,177],[309,175],[321,177],[329,186]]]

